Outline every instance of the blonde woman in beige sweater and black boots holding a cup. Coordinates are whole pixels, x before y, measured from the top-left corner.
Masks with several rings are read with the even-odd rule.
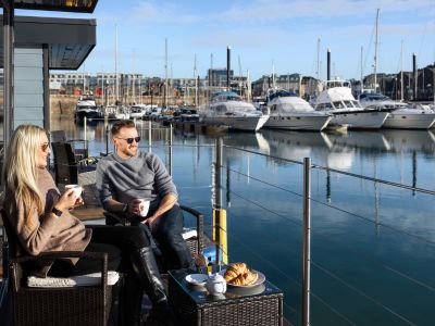
[[[149,239],[138,227],[85,227],[69,212],[83,201],[75,197],[74,189],[60,195],[47,171],[49,154],[46,131],[33,125],[18,126],[7,150],[4,209],[24,250],[33,255],[42,251],[107,252],[109,269],[135,273],[138,279],[139,296],[128,304],[134,306],[129,324],[139,323],[142,290],[152,302],[153,318],[165,324],[171,314]],[[36,272],[42,276],[72,276],[99,272],[100,265],[89,260],[57,260]]]

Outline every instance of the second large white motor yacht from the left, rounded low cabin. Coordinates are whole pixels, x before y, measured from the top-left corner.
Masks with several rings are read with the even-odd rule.
[[[320,131],[330,123],[332,115],[318,112],[295,92],[269,91],[270,117],[265,128]]]

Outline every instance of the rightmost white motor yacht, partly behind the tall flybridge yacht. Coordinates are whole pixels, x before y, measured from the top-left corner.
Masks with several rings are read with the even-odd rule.
[[[368,110],[393,110],[383,128],[428,129],[435,123],[435,112],[428,108],[411,108],[380,93],[362,93],[360,102]]]

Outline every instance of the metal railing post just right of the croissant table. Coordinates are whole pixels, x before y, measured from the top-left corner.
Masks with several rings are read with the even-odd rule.
[[[310,212],[310,158],[303,159],[303,230],[302,230],[302,326],[310,325],[310,264],[311,264],[311,212]]]

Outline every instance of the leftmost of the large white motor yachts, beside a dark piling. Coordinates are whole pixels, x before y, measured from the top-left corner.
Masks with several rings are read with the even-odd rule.
[[[211,98],[210,104],[199,108],[199,117],[204,124],[257,131],[265,124],[269,114],[263,114],[233,91],[222,91]]]

